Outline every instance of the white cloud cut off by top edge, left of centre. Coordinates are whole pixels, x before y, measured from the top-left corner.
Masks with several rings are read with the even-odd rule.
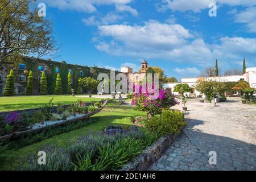
[[[97,11],[95,5],[126,5],[132,0],[44,0],[49,6],[60,10],[76,10],[86,13]]]

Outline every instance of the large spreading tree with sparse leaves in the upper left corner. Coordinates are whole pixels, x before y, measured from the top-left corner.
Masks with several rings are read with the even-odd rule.
[[[9,56],[37,55],[56,51],[52,24],[38,16],[36,0],[0,1],[0,63]]]

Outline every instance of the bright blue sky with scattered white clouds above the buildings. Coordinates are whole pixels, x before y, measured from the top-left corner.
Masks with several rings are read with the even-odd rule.
[[[256,0],[42,0],[57,61],[138,71],[146,59],[167,76],[256,67]],[[208,7],[217,5],[217,16]]]

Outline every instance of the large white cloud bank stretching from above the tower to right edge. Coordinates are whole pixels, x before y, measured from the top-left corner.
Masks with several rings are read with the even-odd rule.
[[[207,44],[180,24],[151,20],[143,26],[98,26],[98,32],[100,41],[96,48],[111,55],[164,59],[203,67],[216,59],[225,64],[241,61],[243,57],[256,60],[256,38],[223,37],[216,44]]]

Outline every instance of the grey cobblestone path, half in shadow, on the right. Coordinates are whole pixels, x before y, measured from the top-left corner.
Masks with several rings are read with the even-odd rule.
[[[217,107],[192,100],[188,108],[188,126],[149,170],[256,170],[256,105],[232,98]]]

